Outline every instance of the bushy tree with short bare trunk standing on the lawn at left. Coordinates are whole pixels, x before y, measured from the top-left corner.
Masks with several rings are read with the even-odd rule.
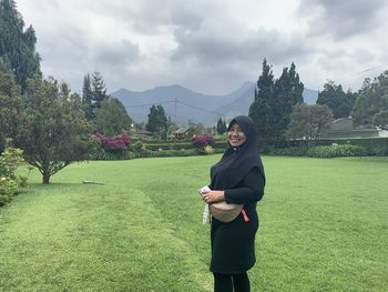
[[[64,167],[88,159],[95,141],[81,98],[70,94],[67,84],[35,75],[28,80],[27,95],[18,145],[49,183]]]

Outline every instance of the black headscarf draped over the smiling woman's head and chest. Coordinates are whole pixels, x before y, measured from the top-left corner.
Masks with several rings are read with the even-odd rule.
[[[211,169],[211,189],[227,190],[241,183],[253,168],[258,168],[265,179],[262,159],[258,154],[255,123],[249,117],[238,115],[229,125],[237,123],[243,130],[246,141],[238,148],[228,144],[222,159]]]

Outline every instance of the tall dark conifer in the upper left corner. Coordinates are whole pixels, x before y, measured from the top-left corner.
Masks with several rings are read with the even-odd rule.
[[[40,73],[40,57],[35,52],[37,37],[32,26],[24,30],[24,21],[13,0],[0,0],[0,59],[14,73],[22,92],[27,79]]]

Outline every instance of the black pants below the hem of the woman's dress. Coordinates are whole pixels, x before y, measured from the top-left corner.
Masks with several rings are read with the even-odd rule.
[[[214,292],[249,292],[248,274],[217,274],[214,275]]]

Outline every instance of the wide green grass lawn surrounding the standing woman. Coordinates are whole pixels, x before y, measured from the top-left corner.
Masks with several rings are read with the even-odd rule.
[[[212,291],[196,190],[218,159],[33,172],[0,209],[0,291]],[[252,291],[388,291],[388,159],[263,160]]]

